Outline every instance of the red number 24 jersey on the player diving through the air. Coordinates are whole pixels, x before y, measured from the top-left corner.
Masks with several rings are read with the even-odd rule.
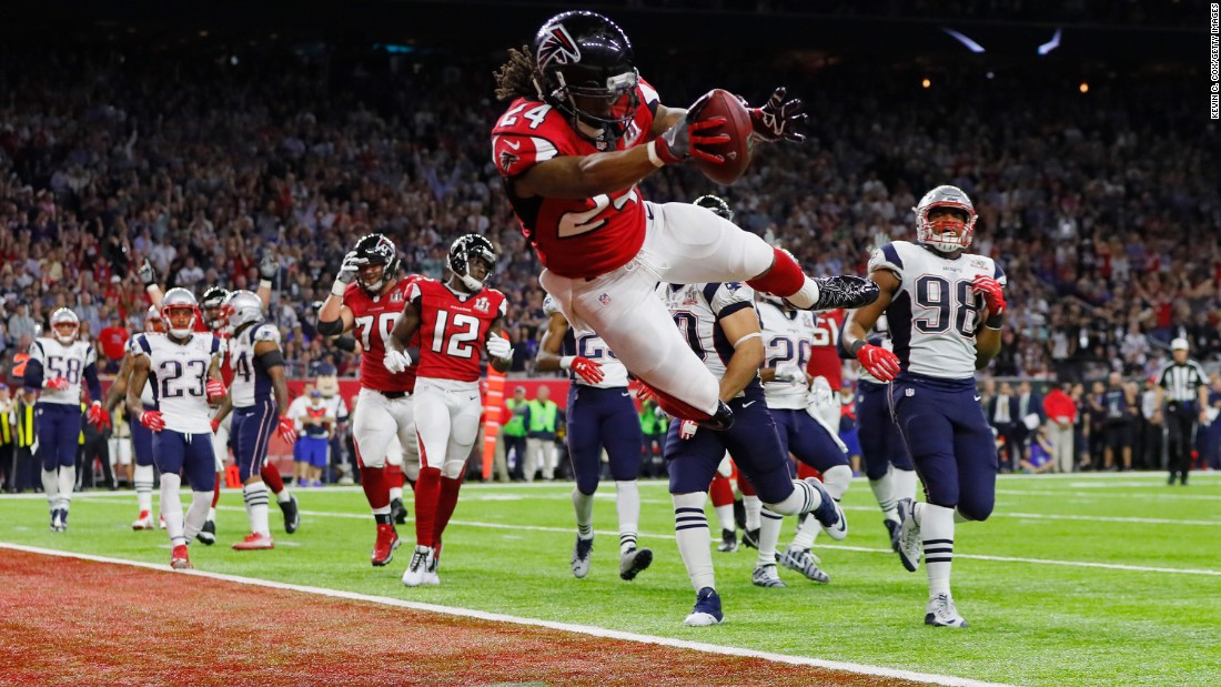
[[[648,143],[657,111],[657,92],[641,81],[640,105],[613,150]],[[563,112],[551,105],[519,98],[492,129],[492,160],[501,171],[504,192],[521,232],[548,270],[564,277],[597,277],[623,267],[645,243],[643,198],[636,187],[595,198],[519,198],[512,179],[538,162],[564,155],[604,153],[581,137]]]

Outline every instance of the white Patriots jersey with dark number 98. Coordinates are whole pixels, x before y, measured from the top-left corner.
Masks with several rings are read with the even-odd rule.
[[[886,308],[890,338],[906,372],[945,379],[976,375],[976,331],[983,326],[982,298],[971,289],[979,276],[1004,288],[1005,272],[991,257],[945,257],[928,248],[896,240],[873,251],[869,271],[890,270],[900,290]]]

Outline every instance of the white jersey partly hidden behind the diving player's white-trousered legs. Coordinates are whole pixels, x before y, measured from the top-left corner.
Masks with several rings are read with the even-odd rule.
[[[657,287],[657,295],[691,350],[714,377],[724,378],[725,366],[734,356],[734,342],[725,337],[720,320],[747,308],[755,310],[755,290],[740,282],[663,283]],[[758,378],[751,383],[757,384]]]

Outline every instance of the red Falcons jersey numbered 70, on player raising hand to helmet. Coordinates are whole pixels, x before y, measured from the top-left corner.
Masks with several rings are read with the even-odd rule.
[[[399,279],[386,293],[374,297],[360,288],[360,284],[350,283],[343,292],[343,304],[352,311],[353,333],[360,342],[363,353],[360,354],[360,386],[375,392],[413,392],[415,390],[416,366],[411,365],[398,375],[392,375],[386,370],[386,339],[398,316],[403,314],[407,305],[407,294],[411,284],[420,279],[418,275],[411,275]],[[408,348],[415,345],[409,342]]]

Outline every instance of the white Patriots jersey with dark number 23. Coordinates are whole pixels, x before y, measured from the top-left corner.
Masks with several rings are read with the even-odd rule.
[[[149,359],[153,398],[165,419],[166,430],[184,434],[211,434],[208,404],[208,369],[221,355],[221,340],[212,334],[193,333],[187,343],[167,334],[136,334],[136,351]]]

